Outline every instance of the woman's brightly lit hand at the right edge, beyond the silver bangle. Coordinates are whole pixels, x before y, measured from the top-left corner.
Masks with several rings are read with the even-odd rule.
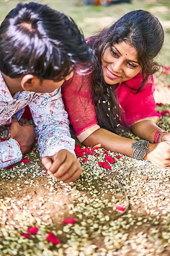
[[[159,168],[170,168],[170,141],[149,144],[145,159]]]

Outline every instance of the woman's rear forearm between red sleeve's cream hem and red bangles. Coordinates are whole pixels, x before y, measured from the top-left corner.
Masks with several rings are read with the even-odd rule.
[[[131,126],[131,130],[134,134],[136,134],[143,140],[148,140],[150,143],[153,143],[156,131],[159,131],[160,129],[161,128],[159,126],[157,126],[154,122],[150,120],[137,122],[136,124]]]

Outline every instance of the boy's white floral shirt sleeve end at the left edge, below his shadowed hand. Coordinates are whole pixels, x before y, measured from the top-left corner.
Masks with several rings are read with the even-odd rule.
[[[22,152],[16,140],[9,139],[0,143],[0,168],[6,168],[21,159]]]

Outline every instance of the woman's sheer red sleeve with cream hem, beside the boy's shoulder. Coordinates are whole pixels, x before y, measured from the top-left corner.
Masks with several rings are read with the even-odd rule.
[[[65,110],[80,142],[100,128],[90,93],[92,86],[90,76],[74,73],[74,77],[62,85]]]

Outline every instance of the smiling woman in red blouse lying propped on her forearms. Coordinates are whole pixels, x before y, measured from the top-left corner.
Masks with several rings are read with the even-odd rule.
[[[160,67],[155,58],[163,41],[159,20],[143,10],[127,13],[87,40],[96,58],[92,73],[75,73],[63,87],[65,107],[81,143],[100,143],[107,150],[170,167],[170,134],[156,125],[160,114],[153,98],[153,74]],[[120,125],[143,140],[117,135]]]

